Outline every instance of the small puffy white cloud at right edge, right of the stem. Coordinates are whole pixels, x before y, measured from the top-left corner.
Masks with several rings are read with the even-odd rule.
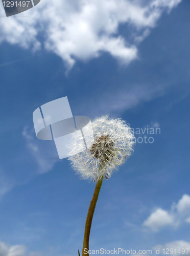
[[[160,228],[165,226],[179,227],[184,222],[190,223],[190,196],[184,194],[178,203],[173,203],[170,210],[163,210],[158,208],[152,212],[143,225],[159,231]]]

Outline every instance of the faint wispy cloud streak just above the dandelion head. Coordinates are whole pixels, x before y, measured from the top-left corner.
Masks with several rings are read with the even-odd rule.
[[[115,86],[116,88],[116,86]],[[96,94],[96,97],[85,99],[85,104],[80,104],[79,113],[84,110],[90,115],[102,115],[111,112],[122,112],[134,108],[142,102],[148,102],[165,94],[167,85],[157,84],[157,86],[149,86],[146,84],[132,84],[125,88],[117,90],[117,88],[109,88],[102,90],[102,93]],[[86,110],[86,105],[89,109]]]

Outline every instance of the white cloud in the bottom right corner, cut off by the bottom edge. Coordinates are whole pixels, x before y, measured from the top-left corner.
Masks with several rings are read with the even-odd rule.
[[[163,254],[163,249],[164,249],[164,252],[166,252],[166,248],[169,248],[169,249],[171,249],[171,250],[168,251],[170,255],[171,254],[174,254],[174,255],[181,255],[181,254],[190,255],[190,242],[186,242],[186,241],[183,241],[183,240],[173,241],[173,242],[170,242],[170,243],[166,243],[164,245],[156,245],[153,248],[155,248],[156,250],[160,249],[160,254]],[[173,253],[171,253],[172,249],[173,249]]]

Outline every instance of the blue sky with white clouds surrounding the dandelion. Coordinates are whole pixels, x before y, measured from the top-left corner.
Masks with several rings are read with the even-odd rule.
[[[190,248],[189,8],[188,0],[41,0],[29,17],[6,17],[2,5],[0,256],[82,250],[95,184],[67,159],[45,159],[58,158],[56,147],[36,138],[32,119],[64,96],[73,115],[160,128],[146,130],[154,142],[136,143],[104,180],[90,249]]]

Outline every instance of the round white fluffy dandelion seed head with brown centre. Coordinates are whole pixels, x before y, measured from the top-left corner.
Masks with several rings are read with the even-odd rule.
[[[122,165],[133,152],[135,137],[130,126],[119,118],[102,116],[91,124],[92,144],[68,160],[83,179],[108,179],[113,170]],[[80,146],[78,136],[74,135],[69,144],[70,152],[76,152]]]

